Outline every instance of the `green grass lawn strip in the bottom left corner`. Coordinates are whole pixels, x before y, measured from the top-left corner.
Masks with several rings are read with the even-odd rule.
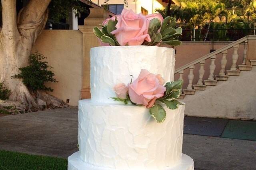
[[[0,150],[0,170],[66,170],[68,160]]]

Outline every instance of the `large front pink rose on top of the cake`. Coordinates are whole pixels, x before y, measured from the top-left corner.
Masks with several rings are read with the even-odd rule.
[[[145,40],[151,42],[148,26],[149,20],[145,16],[124,9],[118,18],[116,30],[111,34],[116,36],[120,45],[141,45]]]

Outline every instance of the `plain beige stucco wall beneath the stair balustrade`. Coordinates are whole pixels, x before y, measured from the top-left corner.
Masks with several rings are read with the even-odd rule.
[[[185,114],[196,117],[256,120],[256,66],[252,71],[241,71],[240,76],[230,76],[216,86],[186,95]]]

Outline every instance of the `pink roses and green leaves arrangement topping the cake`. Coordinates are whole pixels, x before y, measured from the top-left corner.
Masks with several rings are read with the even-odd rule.
[[[102,45],[180,45],[178,37],[182,28],[176,27],[176,19],[161,14],[144,16],[124,9],[120,15],[106,19],[102,28],[93,32]],[[104,44],[103,44],[104,43]]]

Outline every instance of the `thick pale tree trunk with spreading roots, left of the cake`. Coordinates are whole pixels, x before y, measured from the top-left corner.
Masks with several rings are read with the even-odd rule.
[[[47,97],[32,95],[20,79],[12,78],[20,67],[28,65],[32,46],[45,27],[48,18],[48,4],[31,0],[16,17],[16,0],[2,0],[2,21],[0,29],[0,83],[11,91],[9,101],[0,101],[0,109],[8,103],[18,110],[37,111],[46,105]],[[44,93],[42,93],[44,94]],[[47,96],[44,94],[44,96]],[[48,96],[49,98],[49,96]],[[42,101],[45,99],[45,102]],[[59,102],[58,99],[56,101]],[[3,104],[5,103],[5,104]],[[65,104],[58,103],[60,107]],[[2,107],[1,107],[2,105]],[[56,106],[55,106],[56,107]]]

